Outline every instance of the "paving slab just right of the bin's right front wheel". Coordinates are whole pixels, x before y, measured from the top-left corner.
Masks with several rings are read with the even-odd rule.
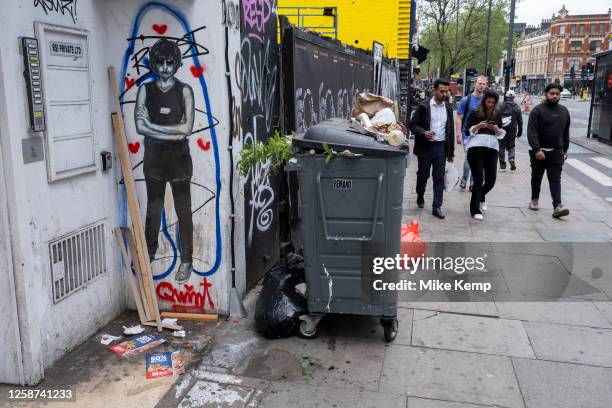
[[[415,310],[412,344],[446,350],[535,358],[522,322]]]

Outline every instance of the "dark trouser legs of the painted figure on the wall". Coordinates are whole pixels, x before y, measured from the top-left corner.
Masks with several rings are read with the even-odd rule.
[[[161,213],[164,208],[166,182],[145,177],[147,185],[147,216],[145,219],[145,239],[149,258],[153,259],[159,244]],[[181,240],[181,262],[192,262],[193,220],[191,217],[191,179],[170,182],[174,209],[178,218],[179,238]]]

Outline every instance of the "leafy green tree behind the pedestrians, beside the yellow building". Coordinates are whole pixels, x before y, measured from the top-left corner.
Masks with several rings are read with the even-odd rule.
[[[495,67],[508,38],[509,7],[506,0],[491,1],[489,64]],[[424,64],[427,71],[449,76],[474,67],[485,72],[488,4],[489,0],[420,2],[419,14],[424,22],[421,43],[430,50]]]

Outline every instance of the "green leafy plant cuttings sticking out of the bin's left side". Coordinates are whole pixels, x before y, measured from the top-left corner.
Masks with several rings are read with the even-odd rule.
[[[293,157],[291,136],[281,136],[278,131],[266,143],[245,144],[236,163],[238,171],[246,176],[258,164],[270,161],[268,171],[276,171]]]

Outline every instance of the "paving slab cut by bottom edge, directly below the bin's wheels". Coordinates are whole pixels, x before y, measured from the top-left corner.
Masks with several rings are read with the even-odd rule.
[[[265,408],[380,408],[406,406],[406,396],[399,392],[378,393],[360,388],[346,390],[330,385],[272,383],[261,398]]]

